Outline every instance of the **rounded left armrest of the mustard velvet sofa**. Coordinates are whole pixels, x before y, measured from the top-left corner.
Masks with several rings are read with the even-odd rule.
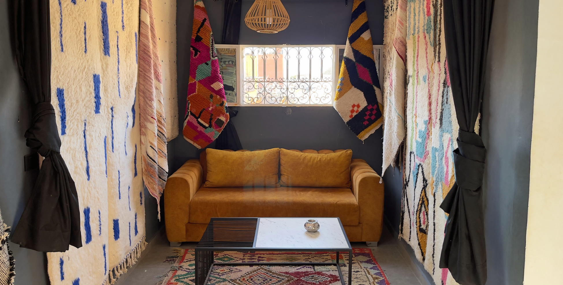
[[[186,241],[186,224],[190,218],[190,201],[202,185],[202,166],[198,159],[187,160],[168,177],[164,188],[164,215],[168,241]]]

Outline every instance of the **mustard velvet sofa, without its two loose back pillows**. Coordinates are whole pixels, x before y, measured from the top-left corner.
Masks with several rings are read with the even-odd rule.
[[[216,217],[338,217],[348,240],[377,246],[383,227],[383,183],[365,160],[351,159],[350,188],[205,187],[205,157],[202,151],[200,159],[187,160],[168,177],[164,214],[171,246],[199,241],[209,220]]]

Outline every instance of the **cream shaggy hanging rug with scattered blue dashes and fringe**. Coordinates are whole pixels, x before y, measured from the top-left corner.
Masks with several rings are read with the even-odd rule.
[[[52,285],[113,284],[145,249],[138,1],[50,1],[51,97],[82,247],[48,252]]]

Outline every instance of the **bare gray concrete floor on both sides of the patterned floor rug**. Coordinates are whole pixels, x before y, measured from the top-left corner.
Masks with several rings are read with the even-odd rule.
[[[414,268],[413,262],[404,250],[400,249],[396,237],[392,237],[387,227],[383,227],[383,234],[378,247],[370,247],[379,265],[385,272],[387,279],[392,285],[426,285],[421,275]],[[195,242],[184,242],[182,249],[193,249]],[[365,242],[352,242],[352,247],[367,247]],[[142,253],[141,259],[133,265],[126,274],[123,274],[115,283],[116,285],[154,285],[170,269],[172,264],[164,263],[166,256],[172,255],[172,247],[169,246],[164,231],[160,232],[149,243],[147,249]],[[418,278],[417,278],[418,277]]]

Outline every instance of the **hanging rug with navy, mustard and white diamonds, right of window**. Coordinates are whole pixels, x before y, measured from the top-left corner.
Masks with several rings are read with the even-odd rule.
[[[360,140],[365,140],[383,123],[382,94],[373,59],[372,34],[364,0],[354,0],[352,19],[340,75],[334,109]]]

